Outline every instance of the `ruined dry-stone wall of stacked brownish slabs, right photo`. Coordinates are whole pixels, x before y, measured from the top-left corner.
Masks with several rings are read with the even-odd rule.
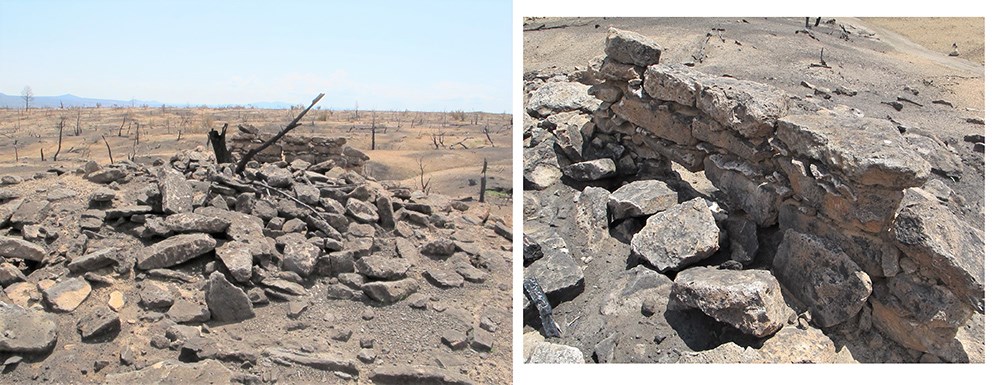
[[[581,181],[635,174],[648,161],[704,171],[730,210],[759,228],[786,230],[785,242],[811,240],[784,245],[785,254],[779,248],[772,269],[814,315],[827,315],[820,326],[867,309],[901,345],[950,357],[958,328],[985,311],[983,234],[918,188],[931,166],[895,126],[765,84],[657,64],[658,50],[612,29],[607,56],[578,76],[598,106],[577,98],[565,108],[533,108],[548,104],[536,103],[542,90],[532,95],[528,113],[546,119],[560,157],[532,164],[545,147],[526,148],[526,186],[544,187],[553,169]],[[831,263],[825,255],[847,258]],[[831,281],[840,279],[856,282],[838,294],[849,299],[822,298],[844,290]]]

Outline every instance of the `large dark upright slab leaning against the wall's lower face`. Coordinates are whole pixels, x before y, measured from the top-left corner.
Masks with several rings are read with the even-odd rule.
[[[809,307],[820,327],[840,324],[861,310],[872,293],[872,281],[847,254],[829,248],[821,238],[785,230],[774,256],[778,281]]]

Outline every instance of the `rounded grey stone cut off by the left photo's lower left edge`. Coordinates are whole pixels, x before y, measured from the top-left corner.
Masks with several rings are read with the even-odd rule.
[[[0,352],[39,354],[52,351],[58,331],[45,312],[0,301]]]

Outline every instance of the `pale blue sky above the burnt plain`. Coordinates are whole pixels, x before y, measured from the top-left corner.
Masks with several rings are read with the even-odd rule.
[[[0,92],[511,112],[510,1],[0,0]]]

